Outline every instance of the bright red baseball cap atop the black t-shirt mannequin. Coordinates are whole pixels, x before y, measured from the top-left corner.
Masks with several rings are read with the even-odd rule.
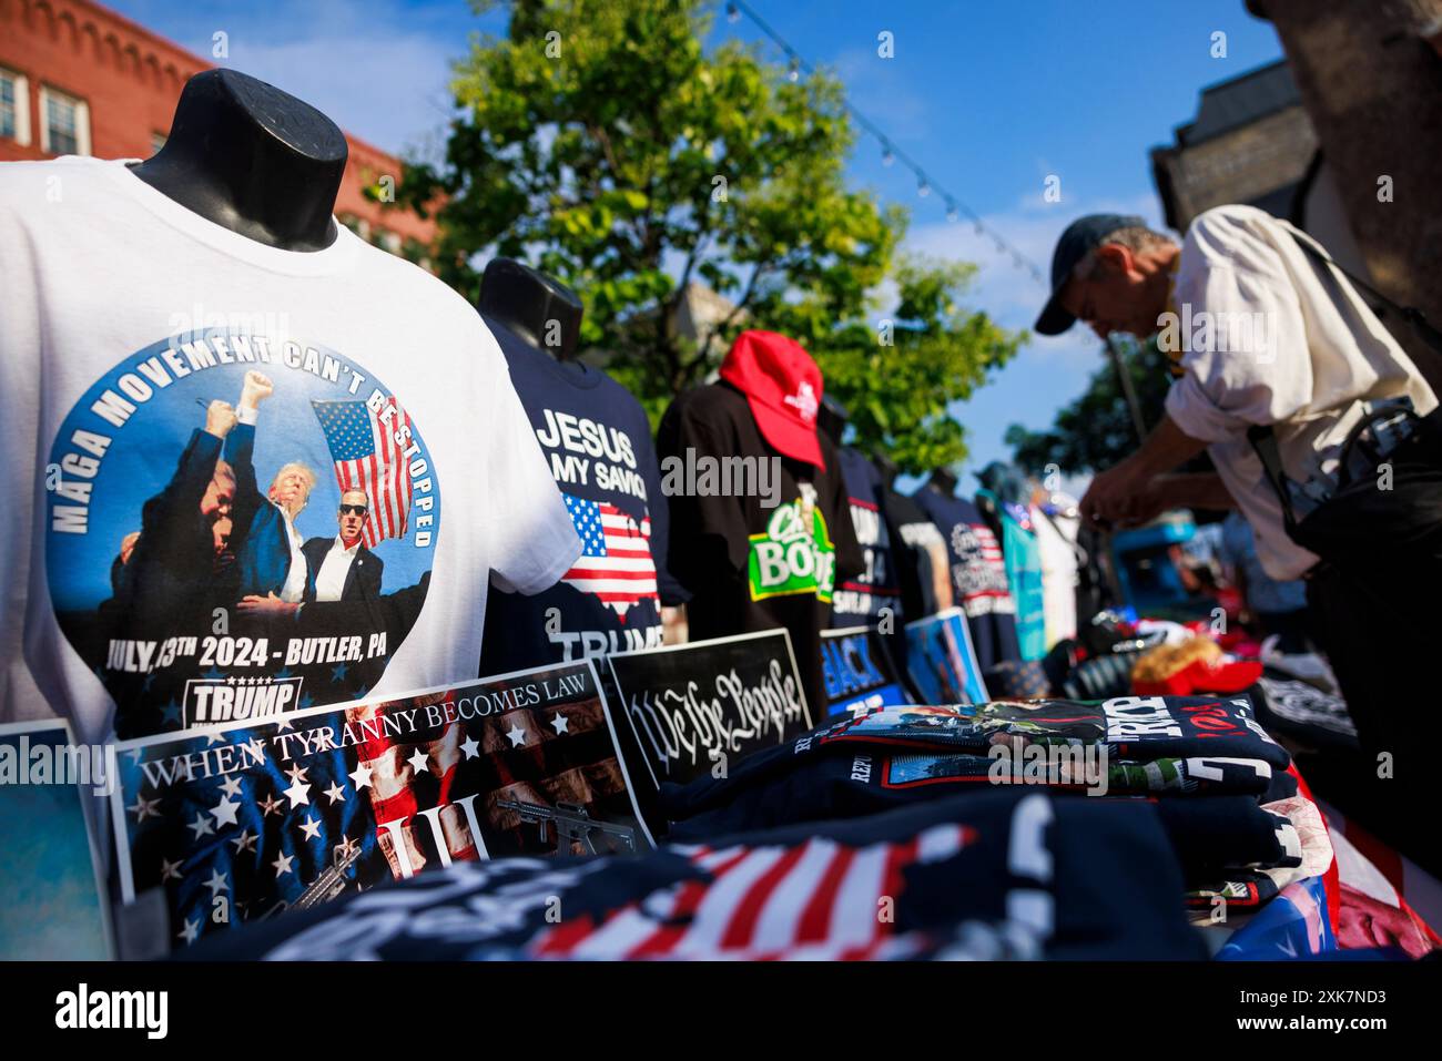
[[[746,395],[771,448],[826,470],[816,440],[820,369],[800,343],[774,332],[743,332],[721,362],[721,379]]]

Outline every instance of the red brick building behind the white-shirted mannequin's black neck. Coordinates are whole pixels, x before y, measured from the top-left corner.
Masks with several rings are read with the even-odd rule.
[[[147,159],[185,82],[213,63],[91,0],[0,0],[0,161],[92,154]],[[349,133],[336,216],[372,244],[425,264],[435,226],[368,199],[398,159]]]

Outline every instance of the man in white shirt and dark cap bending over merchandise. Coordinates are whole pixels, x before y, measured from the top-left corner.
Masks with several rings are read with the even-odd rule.
[[[1442,571],[1348,581],[1319,564],[1288,535],[1247,431],[1270,428],[1286,476],[1319,483],[1335,473],[1366,402],[1407,398],[1425,417],[1438,399],[1371,307],[1302,241],[1309,238],[1250,206],[1201,213],[1181,247],[1141,218],[1082,218],[1057,242],[1053,296],[1037,330],[1057,334],[1080,319],[1099,336],[1159,333],[1158,346],[1182,375],[1142,447],[1093,479],[1082,518],[1128,525],[1175,506],[1240,509],[1263,569],[1282,581],[1308,578],[1366,771],[1396,765],[1405,783],[1396,787],[1410,789],[1419,770],[1403,777],[1393,757],[1409,744],[1406,719],[1430,699],[1433,680],[1420,669],[1429,653],[1407,629],[1426,626],[1433,601],[1419,587],[1436,584]],[[1171,474],[1203,450],[1216,473]],[[1387,551],[1384,532],[1376,538],[1370,548]],[[1396,787],[1384,799],[1400,806],[1407,797]]]

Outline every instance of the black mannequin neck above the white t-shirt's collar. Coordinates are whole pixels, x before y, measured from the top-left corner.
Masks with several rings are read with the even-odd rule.
[[[242,236],[320,251],[336,238],[330,212],[346,156],[345,134],[314,107],[216,69],[186,82],[166,146],[131,172]]]

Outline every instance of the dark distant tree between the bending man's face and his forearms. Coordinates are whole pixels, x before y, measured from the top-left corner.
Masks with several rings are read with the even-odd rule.
[[[1171,386],[1171,362],[1154,342],[1138,343],[1128,336],[1118,336],[1118,342],[1142,419],[1151,430],[1162,418],[1162,404]],[[1017,464],[1032,474],[1044,474],[1050,464],[1069,476],[1105,471],[1138,447],[1126,396],[1105,353],[1086,392],[1057,412],[1051,430],[1028,431],[1021,424],[1012,424],[1005,438]]]

